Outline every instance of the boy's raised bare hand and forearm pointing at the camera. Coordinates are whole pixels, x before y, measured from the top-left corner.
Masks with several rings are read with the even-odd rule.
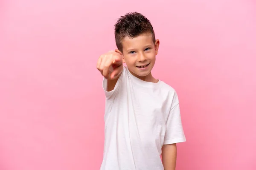
[[[97,62],[97,69],[108,80],[107,91],[112,91],[123,70],[122,53],[115,50],[101,55]]]

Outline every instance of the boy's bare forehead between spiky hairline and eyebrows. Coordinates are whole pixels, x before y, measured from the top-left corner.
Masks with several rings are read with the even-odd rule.
[[[140,34],[133,38],[125,36],[122,40],[123,49],[136,48],[136,47],[138,48],[140,46],[150,45],[150,44],[153,44],[152,34],[150,33]]]

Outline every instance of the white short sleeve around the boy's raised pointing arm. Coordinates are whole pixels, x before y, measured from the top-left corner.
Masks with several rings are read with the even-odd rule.
[[[118,91],[119,89],[119,86],[121,85],[121,82],[122,82],[122,79],[124,77],[124,69],[122,71],[122,73],[120,74],[117,82],[116,82],[116,85],[114,87],[114,89],[112,91],[108,91],[107,88],[108,88],[108,79],[106,79],[105,77],[103,78],[103,81],[102,81],[102,88],[104,90],[104,93],[105,93],[105,96],[106,96],[106,99],[108,100],[111,100],[114,98],[114,96],[116,95],[116,92]]]

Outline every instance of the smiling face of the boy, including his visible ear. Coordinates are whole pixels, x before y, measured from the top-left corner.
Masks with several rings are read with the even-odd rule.
[[[131,74],[138,78],[151,76],[156,55],[159,47],[159,40],[153,42],[151,33],[144,33],[130,39],[125,37],[122,40],[123,62],[126,62]]]

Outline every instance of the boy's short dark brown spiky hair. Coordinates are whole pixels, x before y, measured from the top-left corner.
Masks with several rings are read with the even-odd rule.
[[[138,12],[127,13],[121,16],[115,24],[116,47],[122,52],[122,40],[128,36],[133,38],[140,34],[150,32],[155,43],[155,34],[150,21]]]

